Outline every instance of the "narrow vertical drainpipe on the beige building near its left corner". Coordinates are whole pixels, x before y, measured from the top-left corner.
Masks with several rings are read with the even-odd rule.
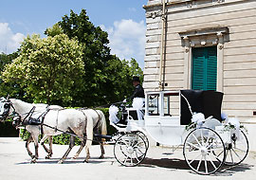
[[[161,32],[161,46],[160,46],[160,66],[159,66],[159,90],[163,90],[164,84],[162,81],[162,71],[163,71],[163,55],[164,55],[164,30],[165,30],[165,0],[162,0],[163,8],[162,8],[162,32]]]

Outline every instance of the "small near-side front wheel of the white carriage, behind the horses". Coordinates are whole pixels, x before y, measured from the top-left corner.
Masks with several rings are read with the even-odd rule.
[[[127,133],[119,136],[114,155],[123,166],[137,166],[145,158],[147,150],[147,144],[140,135]]]

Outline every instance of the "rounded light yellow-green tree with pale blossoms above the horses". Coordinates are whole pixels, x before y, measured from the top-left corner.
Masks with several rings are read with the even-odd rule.
[[[72,89],[82,85],[82,47],[65,34],[27,36],[19,56],[6,65],[2,79],[18,81],[35,102],[69,105]]]

